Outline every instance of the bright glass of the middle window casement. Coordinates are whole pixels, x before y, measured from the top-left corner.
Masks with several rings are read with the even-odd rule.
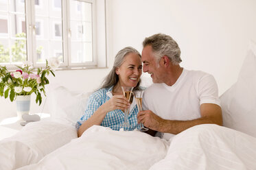
[[[37,63],[54,56],[63,61],[62,55],[62,1],[39,1],[36,8],[36,56]]]

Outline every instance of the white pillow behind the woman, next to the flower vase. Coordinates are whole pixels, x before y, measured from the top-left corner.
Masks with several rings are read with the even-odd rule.
[[[75,125],[82,117],[91,93],[71,91],[64,86],[51,88],[47,95],[51,120]]]

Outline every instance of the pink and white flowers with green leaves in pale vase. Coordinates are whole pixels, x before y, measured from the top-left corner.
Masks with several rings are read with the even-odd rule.
[[[55,66],[56,66],[55,61]],[[57,67],[57,66],[56,66]],[[44,69],[32,67],[32,64],[25,62],[23,66],[16,71],[8,71],[6,66],[0,66],[0,96],[10,98],[10,101],[16,100],[17,114],[21,118],[22,114],[28,114],[30,111],[30,97],[32,93],[36,95],[36,104],[42,103],[42,95],[45,96],[45,85],[49,84],[47,75],[54,75],[53,66],[49,66],[46,60]],[[55,75],[54,75],[55,76]]]

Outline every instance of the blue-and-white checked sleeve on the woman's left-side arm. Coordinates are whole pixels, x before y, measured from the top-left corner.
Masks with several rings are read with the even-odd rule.
[[[93,113],[100,108],[100,106],[102,106],[102,97],[100,96],[99,93],[95,92],[93,93],[89,99],[88,99],[88,103],[86,106],[86,110],[84,111],[84,115],[82,115],[82,117],[80,118],[80,120],[75,123],[75,128],[76,130],[79,129],[79,127],[82,125],[82,123],[84,123],[84,121],[86,121],[87,119],[89,119]]]

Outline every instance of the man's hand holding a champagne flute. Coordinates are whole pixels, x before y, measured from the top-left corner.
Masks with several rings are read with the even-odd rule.
[[[137,115],[138,123],[143,123],[144,126],[151,130],[159,131],[162,122],[164,121],[161,117],[157,116],[151,110],[143,110]]]

